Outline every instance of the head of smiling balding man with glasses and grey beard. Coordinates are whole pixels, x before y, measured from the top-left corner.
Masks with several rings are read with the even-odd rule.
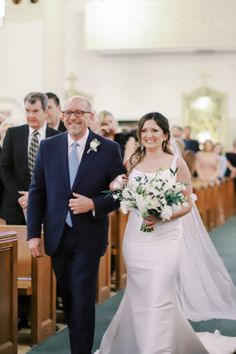
[[[86,97],[73,96],[63,105],[63,120],[68,133],[74,140],[84,136],[90,123],[92,106]]]

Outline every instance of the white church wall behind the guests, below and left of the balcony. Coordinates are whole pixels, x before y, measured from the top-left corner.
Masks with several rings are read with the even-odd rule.
[[[74,73],[76,87],[93,96],[97,111],[138,119],[157,110],[181,124],[182,94],[202,85],[205,69],[209,86],[228,94],[229,141],[236,135],[234,52],[102,55],[84,50],[82,0],[22,1],[17,14],[10,3],[0,31],[0,99],[22,104],[32,90],[52,90],[63,99]]]

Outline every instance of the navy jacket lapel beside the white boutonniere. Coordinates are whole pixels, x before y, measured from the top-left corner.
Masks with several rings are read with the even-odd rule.
[[[74,190],[75,187],[80,183],[80,180],[84,176],[84,174],[86,173],[86,170],[87,170],[89,164],[91,164],[91,162],[95,158],[95,155],[96,155],[95,151],[90,151],[88,153],[88,150],[89,150],[89,147],[90,147],[90,143],[91,143],[91,141],[94,138],[96,138],[96,135],[90,130],[88,139],[86,141],[85,149],[84,149],[84,152],[83,152],[83,156],[82,156],[82,159],[81,159],[81,162],[80,162],[80,165],[79,165],[79,169],[78,169],[77,175],[75,177],[75,181],[74,181],[73,186],[72,186],[72,190]]]

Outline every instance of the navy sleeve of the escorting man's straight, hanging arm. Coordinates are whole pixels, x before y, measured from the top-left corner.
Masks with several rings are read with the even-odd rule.
[[[34,174],[29,187],[27,208],[27,239],[41,237],[46,205],[45,176],[43,166],[42,144],[39,146],[35,161]]]

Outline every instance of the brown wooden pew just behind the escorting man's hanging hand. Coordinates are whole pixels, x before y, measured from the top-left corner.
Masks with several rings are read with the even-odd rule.
[[[56,283],[51,258],[33,258],[26,241],[26,226],[0,225],[0,231],[14,231],[18,240],[17,287],[18,294],[31,299],[31,344],[42,342],[55,333]]]

